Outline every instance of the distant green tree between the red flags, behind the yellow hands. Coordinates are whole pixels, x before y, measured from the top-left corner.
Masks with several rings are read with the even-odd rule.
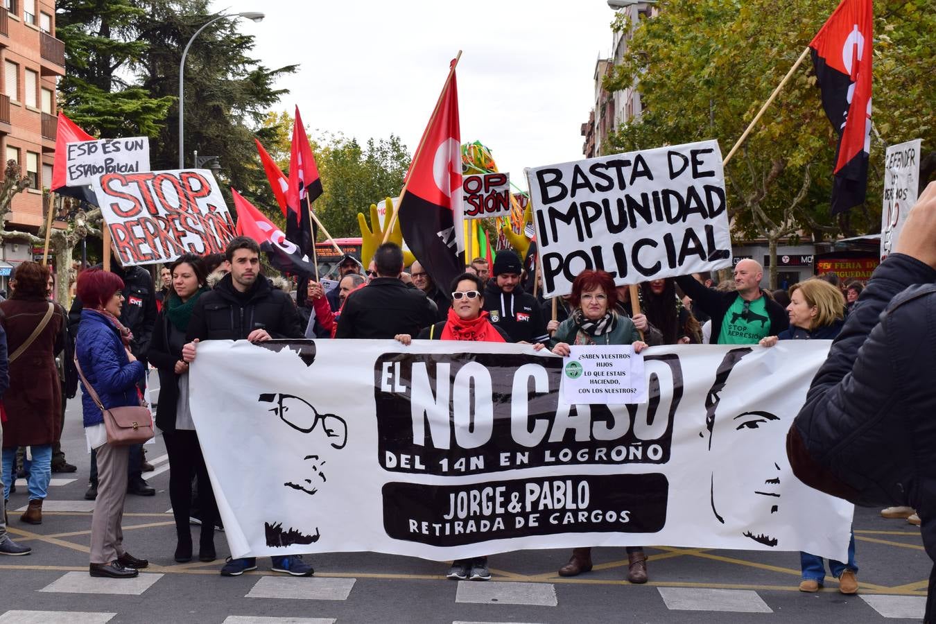
[[[399,137],[363,146],[355,138],[326,134],[312,141],[324,192],[315,200],[315,214],[336,238],[358,237],[358,212],[370,214],[371,204],[400,193],[410,155]]]

